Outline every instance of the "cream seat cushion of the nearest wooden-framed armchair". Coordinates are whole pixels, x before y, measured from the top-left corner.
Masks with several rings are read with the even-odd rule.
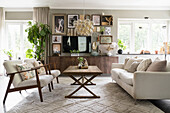
[[[39,80],[40,80],[41,87],[44,87],[53,80],[53,76],[52,75],[41,75],[39,76]],[[36,77],[33,77],[29,80],[22,81],[21,83],[18,84],[17,87],[30,86],[30,85],[37,85]]]

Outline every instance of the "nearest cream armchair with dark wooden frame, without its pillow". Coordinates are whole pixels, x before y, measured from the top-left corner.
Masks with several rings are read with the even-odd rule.
[[[35,67],[35,68],[31,68],[29,70],[24,70],[24,71],[18,72],[17,67],[16,67],[17,64],[22,64],[22,61],[21,60],[9,60],[9,61],[5,61],[3,63],[3,65],[6,69],[7,75],[10,77],[9,83],[7,86],[7,90],[5,93],[5,97],[3,100],[3,104],[5,104],[8,93],[15,92],[15,91],[21,91],[21,90],[25,90],[25,89],[31,89],[31,88],[38,88],[40,100],[41,100],[41,102],[43,102],[41,88],[48,85],[49,91],[51,92],[50,83],[53,84],[52,83],[53,76],[49,75],[48,73],[46,73],[46,75],[38,76],[37,70],[40,67]],[[41,67],[45,67],[47,69],[47,66],[48,65],[44,65]],[[30,78],[28,80],[23,80],[20,76],[20,73],[24,73],[24,72],[28,72],[28,71],[35,71],[35,77]],[[11,84],[13,84],[14,88],[11,88]]]

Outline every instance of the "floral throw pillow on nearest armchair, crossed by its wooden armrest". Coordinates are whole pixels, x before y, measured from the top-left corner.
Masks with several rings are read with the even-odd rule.
[[[18,71],[24,71],[31,69],[30,65],[24,63],[24,64],[17,64],[16,65]],[[23,80],[28,80],[30,78],[33,78],[35,76],[35,71],[27,71],[20,73]]]

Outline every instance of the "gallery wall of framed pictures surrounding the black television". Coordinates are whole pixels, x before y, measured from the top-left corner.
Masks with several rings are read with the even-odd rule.
[[[97,34],[92,36],[92,42],[98,42],[100,45],[109,45],[113,41],[112,26],[114,18],[112,15],[102,14],[76,14],[76,13],[51,13],[52,25],[52,40],[51,40],[51,55],[60,56],[62,53],[62,38],[63,36],[78,36],[75,30],[74,21],[78,19],[89,19],[93,22],[93,33]],[[106,41],[107,40],[107,41]]]

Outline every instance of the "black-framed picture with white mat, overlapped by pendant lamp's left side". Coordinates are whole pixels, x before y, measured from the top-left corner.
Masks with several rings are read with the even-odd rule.
[[[73,14],[73,15],[67,15],[68,17],[68,28],[75,28],[74,21],[77,21],[79,19],[79,15]]]

